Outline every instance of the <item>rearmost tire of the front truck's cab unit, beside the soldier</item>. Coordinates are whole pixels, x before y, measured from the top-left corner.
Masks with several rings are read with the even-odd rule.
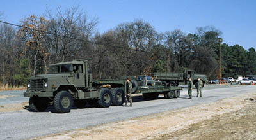
[[[113,91],[112,103],[114,106],[121,106],[124,103],[124,91],[121,88],[115,88]]]

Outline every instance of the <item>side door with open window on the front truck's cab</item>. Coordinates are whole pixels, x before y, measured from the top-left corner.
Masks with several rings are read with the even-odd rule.
[[[74,64],[73,65],[75,77],[74,77],[74,85],[76,87],[85,87],[85,77],[84,77],[84,69],[83,65],[81,64]]]

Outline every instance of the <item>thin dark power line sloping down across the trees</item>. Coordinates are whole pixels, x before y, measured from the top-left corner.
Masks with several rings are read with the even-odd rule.
[[[93,41],[88,41],[88,40],[83,40],[83,39],[77,39],[77,38],[71,38],[71,37],[69,37],[69,36],[62,36],[62,35],[60,35],[60,34],[55,34],[55,33],[52,33],[52,32],[42,31],[42,30],[38,30],[38,29],[32,29],[32,28],[29,28],[29,27],[24,27],[24,26],[22,26],[22,25],[12,24],[12,23],[10,23],[10,22],[4,22],[4,21],[1,21],[1,20],[0,20],[0,22],[3,23],[3,24],[13,25],[13,26],[16,26],[16,27],[24,28],[24,29],[29,29],[29,30],[38,31],[38,32],[44,32],[45,34],[52,34],[52,35],[54,35],[54,36],[60,36],[60,37],[62,37],[62,38],[74,39],[74,40],[77,40],[77,41],[84,41],[84,42],[86,42],[86,43],[91,43],[91,44],[95,44],[95,45],[111,46],[111,47],[113,47],[113,48],[122,48],[122,47],[120,47],[120,46],[104,45],[104,44],[102,44],[102,43],[95,43],[95,42],[93,42]],[[133,50],[133,49],[129,49],[129,48],[122,48],[122,49],[132,50],[132,51],[136,51],[136,52],[149,53],[149,52],[143,51],[143,50]]]

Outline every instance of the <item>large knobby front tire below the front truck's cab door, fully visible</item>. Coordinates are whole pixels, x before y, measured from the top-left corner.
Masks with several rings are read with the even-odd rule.
[[[59,113],[68,113],[72,109],[72,95],[67,91],[60,91],[54,97],[54,108]]]

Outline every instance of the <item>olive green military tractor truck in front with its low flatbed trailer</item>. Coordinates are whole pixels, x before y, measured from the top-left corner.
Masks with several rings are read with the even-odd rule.
[[[179,90],[182,90],[182,87],[161,85],[138,86],[136,78],[131,82],[132,93],[142,93],[146,99],[155,99],[159,94],[171,99],[179,97]],[[87,60],[74,60],[52,64],[47,74],[29,78],[24,97],[29,97],[30,111],[44,111],[51,105],[56,111],[67,113],[73,104],[81,108],[86,102],[97,103],[102,108],[120,106],[126,94],[125,78],[93,80]]]

